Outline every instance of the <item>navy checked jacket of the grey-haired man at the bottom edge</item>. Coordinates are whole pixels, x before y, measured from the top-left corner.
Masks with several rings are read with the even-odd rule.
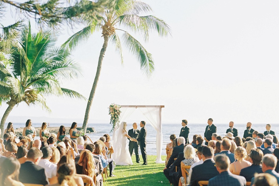
[[[208,186],[245,186],[246,180],[243,176],[237,176],[232,174],[230,171],[223,171],[219,175],[211,178],[208,181]]]

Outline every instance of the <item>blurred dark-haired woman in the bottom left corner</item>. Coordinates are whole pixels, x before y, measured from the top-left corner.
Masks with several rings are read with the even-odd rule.
[[[24,186],[18,181],[20,164],[15,158],[6,158],[0,167],[0,183],[3,186]]]

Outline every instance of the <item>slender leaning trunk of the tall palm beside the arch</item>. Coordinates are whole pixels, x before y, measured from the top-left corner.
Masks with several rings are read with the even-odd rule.
[[[99,81],[99,77],[100,77],[100,72],[101,72],[101,68],[102,68],[102,62],[103,62],[103,59],[104,59],[104,56],[105,56],[105,51],[106,51],[106,49],[108,47],[108,37],[109,36],[107,34],[104,35],[104,44],[103,44],[103,47],[102,47],[101,52],[100,52],[97,72],[96,72],[96,75],[95,75],[95,79],[94,79],[94,83],[93,83],[93,86],[92,86],[92,90],[90,92],[88,103],[87,103],[87,107],[86,107],[86,110],[85,110],[85,116],[84,116],[83,125],[82,125],[82,128],[83,128],[85,133],[86,133],[86,130],[87,130],[87,123],[88,123],[88,119],[89,119],[90,109],[91,109],[91,106],[92,106],[92,101],[93,101],[93,98],[94,98],[94,95],[95,95],[95,91],[96,91],[96,87],[97,87],[97,84],[98,84],[98,81]]]

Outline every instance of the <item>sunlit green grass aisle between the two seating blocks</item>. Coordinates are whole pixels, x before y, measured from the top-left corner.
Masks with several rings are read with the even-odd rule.
[[[155,155],[147,155],[147,164],[140,165],[136,163],[135,155],[132,155],[133,165],[130,166],[116,166],[113,174],[117,177],[109,177],[105,179],[104,186],[115,185],[129,185],[129,186],[143,186],[143,185],[160,185],[169,186],[169,181],[163,174],[164,163],[155,163]],[[162,155],[162,160],[166,156]],[[142,157],[140,155],[140,162]],[[161,183],[162,182],[162,183]]]

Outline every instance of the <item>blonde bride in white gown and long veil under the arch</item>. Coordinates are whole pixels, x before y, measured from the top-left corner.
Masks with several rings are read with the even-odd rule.
[[[113,144],[114,146],[114,160],[117,165],[132,165],[132,158],[129,153],[128,145],[127,145],[127,138],[131,139],[132,141],[137,141],[131,138],[127,134],[127,123],[122,122],[119,128],[116,131],[116,142]]]

